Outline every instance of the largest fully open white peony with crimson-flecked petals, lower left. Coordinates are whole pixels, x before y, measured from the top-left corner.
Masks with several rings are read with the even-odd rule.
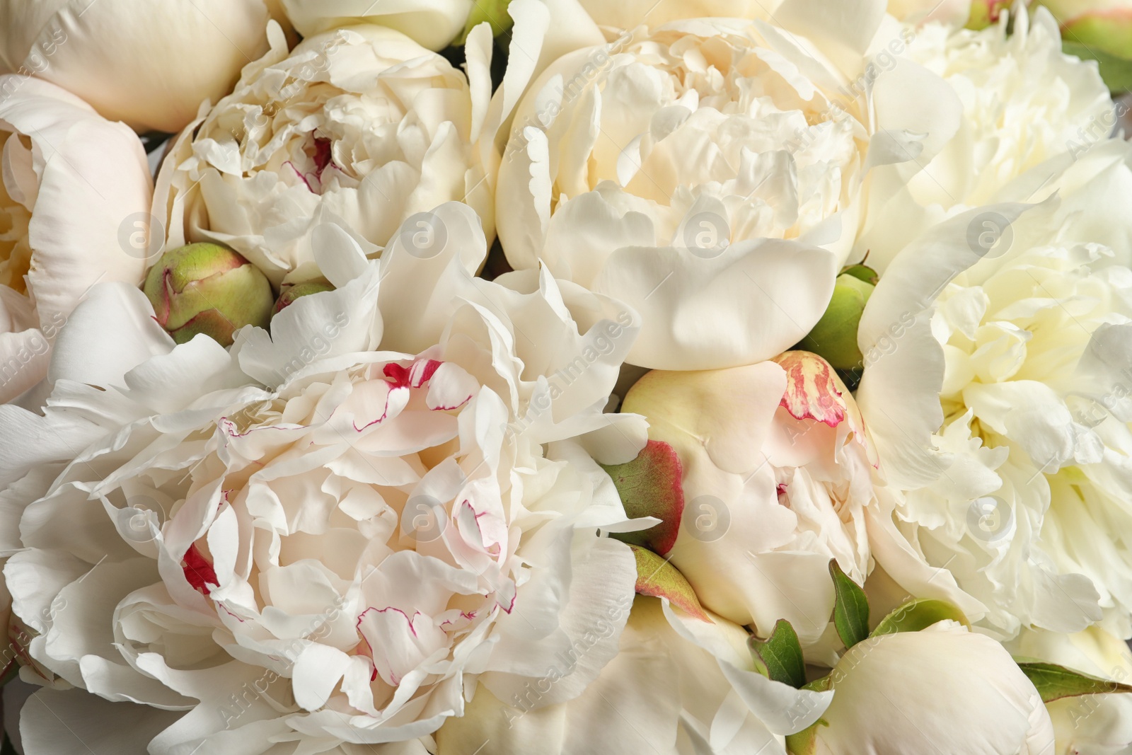
[[[398,237],[367,261],[325,228],[336,290],[230,352],[174,346],[139,291],[97,286],[45,415],[0,407],[0,480],[24,474],[6,582],[51,678],[29,752],[86,752],[51,710],[138,721],[121,752],[420,753],[469,684],[509,700],[559,668],[552,705],[614,658],[636,568],[595,537],[628,523],[590,454],[644,445],[640,418],[602,414],[637,325],[546,273],[473,278],[474,213],[436,217],[429,259]],[[92,336],[117,324],[129,346],[105,353]]]

